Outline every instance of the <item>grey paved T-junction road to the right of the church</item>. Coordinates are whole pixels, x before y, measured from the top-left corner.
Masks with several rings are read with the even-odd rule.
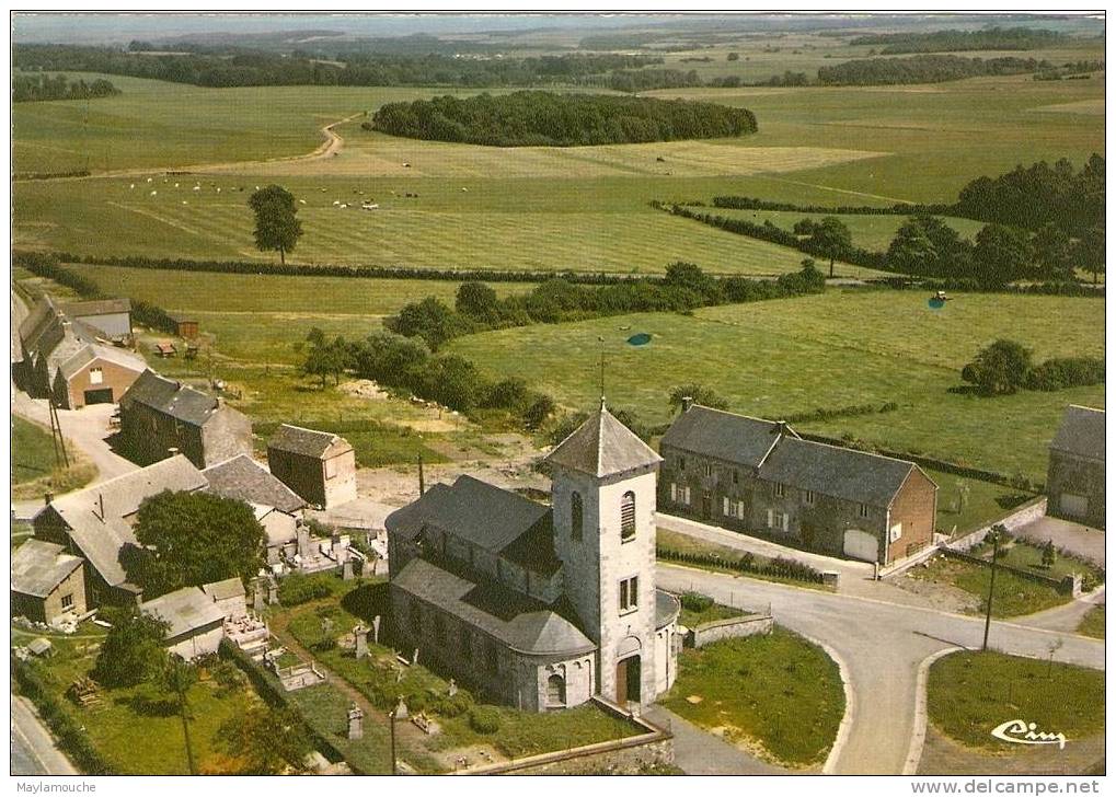
[[[826,643],[843,660],[852,688],[852,727],[833,771],[898,775],[915,727],[918,665],[951,646],[979,647],[983,621],[918,606],[822,593],[673,565],[660,565],[657,584],[698,589],[721,603],[763,611],[776,622]],[[1058,661],[1104,669],[1104,642],[995,622],[990,644],[1007,653],[1047,656],[1062,640]]]

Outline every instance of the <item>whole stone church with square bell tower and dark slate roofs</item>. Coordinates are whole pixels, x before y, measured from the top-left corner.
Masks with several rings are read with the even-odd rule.
[[[602,398],[546,459],[551,507],[462,476],[393,512],[396,646],[525,711],[653,702],[681,646],[655,588],[661,461]]]

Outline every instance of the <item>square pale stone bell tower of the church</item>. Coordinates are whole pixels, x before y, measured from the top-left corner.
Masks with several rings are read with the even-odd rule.
[[[547,458],[555,551],[581,630],[599,646],[596,691],[655,699],[655,480],[662,458],[605,407]]]

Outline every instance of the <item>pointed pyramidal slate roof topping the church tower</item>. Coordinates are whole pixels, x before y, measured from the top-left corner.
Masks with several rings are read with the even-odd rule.
[[[603,478],[658,464],[663,458],[617,421],[602,401],[599,412],[558,443],[546,461]]]

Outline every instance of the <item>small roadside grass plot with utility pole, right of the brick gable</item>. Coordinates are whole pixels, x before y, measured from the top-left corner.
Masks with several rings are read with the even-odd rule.
[[[910,575],[912,578],[939,582],[962,589],[980,598],[980,605],[973,609],[973,614],[983,615],[987,611],[990,567],[940,556],[927,567],[910,570]],[[992,616],[1018,617],[1060,606],[1070,599],[1068,594],[1059,593],[1052,586],[1017,576],[1010,570],[998,569],[992,596]]]

